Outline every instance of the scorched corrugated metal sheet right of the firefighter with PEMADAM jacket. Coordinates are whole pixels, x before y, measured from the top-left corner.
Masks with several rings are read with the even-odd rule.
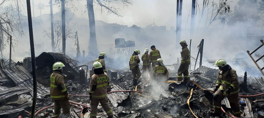
[[[118,84],[111,83],[111,86],[112,86],[112,91],[125,90]],[[128,92],[116,92],[116,93],[107,94],[108,99],[111,101],[114,107],[117,107],[118,103],[121,103],[123,100],[127,99],[128,96],[129,96]]]

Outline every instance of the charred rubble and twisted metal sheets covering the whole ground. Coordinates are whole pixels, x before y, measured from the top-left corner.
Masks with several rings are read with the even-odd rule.
[[[54,56],[56,55],[56,56]],[[36,58],[37,70],[39,70],[39,76],[41,84],[38,82],[37,86],[37,105],[36,111],[53,105],[53,101],[50,99],[49,87],[45,87],[49,83],[48,75],[52,71],[46,71],[50,68],[50,64],[54,61],[64,61],[67,73],[73,73],[72,79],[67,80],[66,86],[69,94],[72,95],[88,95],[89,91],[89,76],[90,71],[88,62],[86,65],[79,66],[77,61],[70,60],[66,55],[56,53],[43,53],[41,58],[51,58],[49,61],[41,58]],[[63,59],[63,58],[65,59]],[[45,62],[44,62],[45,61]],[[2,61],[3,62],[3,61]],[[28,60],[27,62],[30,62]],[[92,61],[91,61],[92,62]],[[23,63],[23,66],[26,63]],[[41,65],[41,66],[40,66]],[[7,68],[4,63],[0,61],[0,117],[29,117],[32,106],[32,90],[33,82],[30,74],[30,69],[25,69],[18,64],[13,64],[11,68]],[[140,65],[142,66],[142,65]],[[84,70],[84,78],[80,76],[79,68]],[[210,117],[209,112],[213,111],[213,94],[207,90],[197,88],[193,83],[164,83],[163,80],[155,80],[150,76],[150,80],[145,82],[148,78],[142,78],[141,83],[135,88],[132,85],[132,73],[129,68],[114,69],[110,66],[107,67],[107,72],[110,76],[112,91],[119,90],[137,90],[143,91],[142,93],[128,93],[128,92],[116,92],[108,94],[107,97],[110,101],[110,106],[113,109],[115,118],[136,118],[136,117],[153,117],[153,118],[176,118],[176,117]],[[176,72],[170,71],[170,81],[176,80]],[[216,83],[218,75],[217,69],[211,69],[205,66],[192,71],[189,75],[192,81],[195,81],[202,88],[212,90]],[[261,83],[255,81],[255,79],[248,79],[247,84],[243,77],[239,77],[239,95],[254,95],[264,93],[264,88]],[[258,78],[259,79],[259,78]],[[262,78],[259,79],[259,81]],[[47,80],[47,81],[44,81]],[[80,82],[82,81],[82,82]],[[249,82],[250,81],[250,82]],[[255,82],[253,82],[255,81]],[[263,80],[264,81],[264,80]],[[144,84],[143,84],[144,83]],[[42,85],[43,84],[43,85]],[[45,85],[45,86],[44,86]],[[143,86],[144,85],[144,86]],[[247,85],[247,86],[245,86]],[[144,90],[143,90],[144,89]],[[190,91],[193,90],[190,97]],[[254,103],[255,100],[263,100],[264,96],[256,96],[251,98],[240,98],[241,100],[241,113],[244,117],[258,117],[257,112],[264,110],[263,103]],[[71,102],[71,117],[79,117],[79,111],[87,105],[89,107],[88,96],[70,96]],[[75,103],[74,103],[75,102]],[[222,102],[223,109],[230,113],[231,108],[227,99]],[[191,110],[192,112],[191,112]],[[41,111],[36,117],[44,118],[54,116],[53,108],[48,108]],[[89,116],[89,109],[85,118]],[[222,114],[227,117],[227,115]],[[102,107],[98,106],[98,117],[106,118],[107,115],[103,111]]]

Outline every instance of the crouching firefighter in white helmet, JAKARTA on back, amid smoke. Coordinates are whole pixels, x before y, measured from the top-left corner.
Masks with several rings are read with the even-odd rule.
[[[166,80],[169,77],[169,72],[163,64],[163,59],[157,59],[158,64],[153,68],[153,75],[155,76],[156,80],[163,80],[166,78]]]

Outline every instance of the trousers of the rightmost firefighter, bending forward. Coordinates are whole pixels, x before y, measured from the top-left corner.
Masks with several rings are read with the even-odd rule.
[[[236,117],[241,117],[240,115],[240,106],[239,106],[239,98],[238,98],[238,93],[235,94],[230,94],[226,96],[229,104],[231,106],[231,109],[233,111],[233,115]],[[221,101],[225,98],[225,95],[223,95],[223,91],[218,89],[213,97],[213,104],[214,104],[214,111],[216,113],[221,114]]]

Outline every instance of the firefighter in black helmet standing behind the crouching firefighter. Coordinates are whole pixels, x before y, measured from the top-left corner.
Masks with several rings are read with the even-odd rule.
[[[161,59],[161,54],[159,53],[159,50],[156,49],[155,45],[151,45],[150,49],[149,62],[152,63],[151,66],[154,68],[158,64],[157,59]]]

